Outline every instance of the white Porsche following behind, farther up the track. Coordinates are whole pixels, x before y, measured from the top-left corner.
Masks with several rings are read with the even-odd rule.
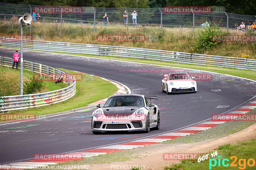
[[[183,93],[183,92],[196,92],[195,77],[190,77],[188,73],[169,73],[164,74],[162,80],[162,92],[168,93]]]

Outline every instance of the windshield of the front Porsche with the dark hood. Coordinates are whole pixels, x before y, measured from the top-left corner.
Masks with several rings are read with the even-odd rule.
[[[113,96],[109,97],[103,107],[137,106],[144,107],[143,97],[140,96]]]

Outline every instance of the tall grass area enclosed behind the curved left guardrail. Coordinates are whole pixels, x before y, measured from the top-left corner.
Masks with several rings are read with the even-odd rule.
[[[0,96],[20,95],[20,70],[11,69],[11,67],[0,67],[0,75]],[[34,73],[31,71],[23,70],[23,82],[28,81],[33,75]],[[54,81],[45,81],[44,83],[44,88],[38,93],[58,90],[68,86],[63,83],[55,84]],[[25,87],[25,84],[23,86]]]

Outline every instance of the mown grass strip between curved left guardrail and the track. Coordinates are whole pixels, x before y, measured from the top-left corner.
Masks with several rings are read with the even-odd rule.
[[[65,70],[65,69],[63,69]],[[65,70],[70,74],[77,74],[77,72]],[[54,82],[53,82],[54,83]],[[60,83],[58,83],[60,84]],[[27,110],[18,110],[8,113],[33,113],[36,116],[51,114],[80,107],[87,106],[90,103],[107,98],[113,95],[118,88],[109,81],[102,80],[101,78],[83,74],[82,81],[76,81],[76,94],[70,99],[48,106],[42,106]]]

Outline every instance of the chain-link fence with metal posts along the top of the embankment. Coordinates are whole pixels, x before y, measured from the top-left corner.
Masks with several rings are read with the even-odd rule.
[[[54,7],[54,6],[37,6],[29,4],[10,4],[10,3],[0,3],[0,19],[8,20],[13,15],[22,16],[24,13],[36,13],[40,14],[44,8],[55,9],[56,8],[66,8],[66,7]],[[235,29],[235,24],[241,24],[244,22],[248,27],[251,27],[252,22],[255,21],[256,16],[250,15],[239,15],[228,12],[215,12],[210,14],[198,14],[198,13],[175,13],[167,14],[163,12],[163,8],[96,8],[96,7],[77,7],[81,8],[81,12],[74,12],[71,10],[68,12],[63,11],[63,13],[45,13],[40,14],[40,22],[45,23],[59,23],[60,24],[60,34],[63,24],[76,24],[76,25],[88,25],[95,30],[99,27],[116,27],[126,28],[126,34],[134,33],[133,27],[144,28],[144,27],[159,27],[159,32],[162,34],[163,27],[165,28],[190,28],[193,35],[195,28],[202,28],[209,26],[210,24],[215,24],[220,28]],[[128,23],[124,22],[124,11],[127,11]],[[133,24],[131,13],[137,11],[137,24]],[[107,13],[108,23],[104,24],[103,17]],[[36,21],[35,21],[36,22]],[[31,26],[30,26],[31,33]]]

